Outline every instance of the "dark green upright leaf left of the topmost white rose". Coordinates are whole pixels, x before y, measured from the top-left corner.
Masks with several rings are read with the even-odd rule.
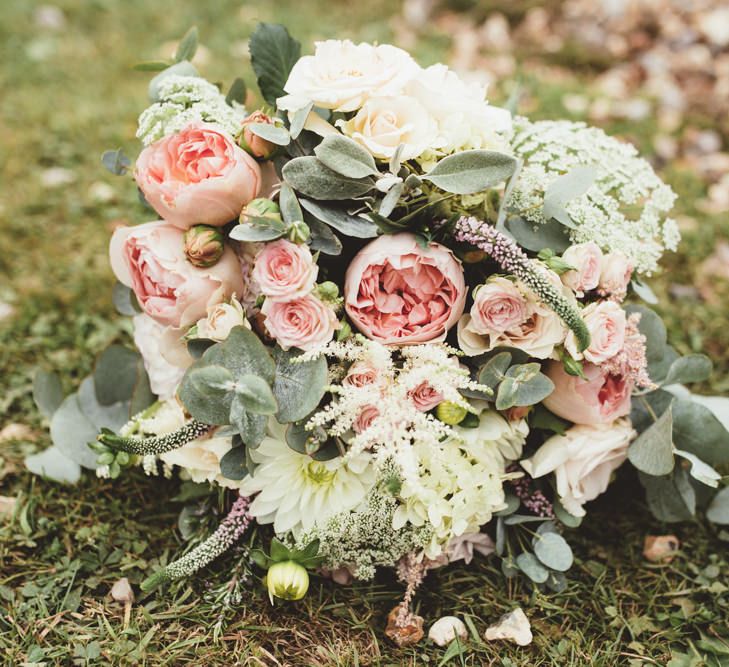
[[[282,97],[286,80],[301,56],[301,44],[282,25],[259,23],[249,41],[251,65],[263,99],[272,106]]]

